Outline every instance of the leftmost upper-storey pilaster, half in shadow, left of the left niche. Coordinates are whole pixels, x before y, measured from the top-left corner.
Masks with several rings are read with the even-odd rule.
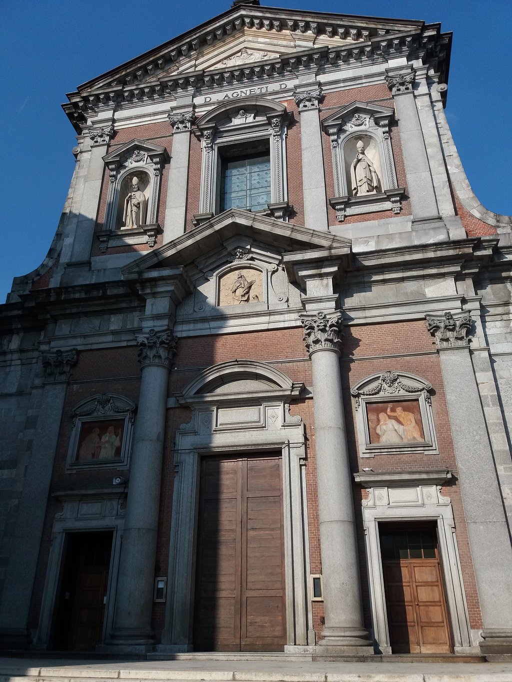
[[[105,167],[103,156],[112,134],[112,125],[104,125],[102,128],[89,130],[89,164],[83,181],[82,201],[79,206],[79,216],[76,221],[71,256],[66,265],[67,269],[84,266],[89,269],[94,226],[96,225]],[[81,153],[87,153],[87,150],[84,149]],[[66,273],[63,280],[65,284],[72,284],[69,281],[69,276],[73,276],[72,272]]]

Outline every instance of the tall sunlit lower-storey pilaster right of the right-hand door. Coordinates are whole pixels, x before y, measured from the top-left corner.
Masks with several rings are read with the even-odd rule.
[[[483,619],[482,653],[512,653],[512,546],[469,351],[470,313],[428,316],[436,338]]]

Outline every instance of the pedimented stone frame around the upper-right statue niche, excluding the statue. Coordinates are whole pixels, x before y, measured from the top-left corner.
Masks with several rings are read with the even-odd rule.
[[[343,222],[346,216],[375,211],[400,213],[404,189],[398,187],[393,149],[389,136],[389,125],[394,110],[366,102],[352,102],[322,121],[324,132],[330,137],[332,170],[335,179],[335,195],[329,198],[337,219]],[[365,135],[377,144],[382,169],[382,192],[350,196],[345,173],[343,149],[350,138]]]

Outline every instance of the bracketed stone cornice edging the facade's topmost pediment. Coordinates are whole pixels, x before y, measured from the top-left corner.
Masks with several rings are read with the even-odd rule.
[[[251,6],[251,16],[243,6],[236,12],[227,12],[208,25],[178,37],[152,50],[126,65],[79,86],[70,93],[69,103],[63,108],[77,132],[82,132],[87,119],[103,109],[139,106],[158,99],[173,100],[173,91],[194,89],[210,94],[218,88],[240,85],[249,87],[265,83],[270,76],[300,74],[316,67],[321,72],[339,70],[344,63],[350,67],[363,59],[375,58],[386,61],[398,55],[426,60],[435,65],[436,72],[446,80],[445,70],[449,60],[451,34],[440,33],[439,25],[425,26],[423,22],[401,22],[380,20],[366,23],[358,16],[326,15],[257,8]],[[225,17],[222,20],[222,17]],[[283,54],[274,59],[256,63],[236,64],[213,70],[197,70],[188,73],[169,74],[173,64],[180,64],[191,54],[197,53],[203,45],[221,44],[223,38],[245,27],[257,29],[263,35],[283,31],[310,33],[324,40],[339,38],[338,46],[319,46],[309,50]],[[446,74],[447,75],[447,74]]]

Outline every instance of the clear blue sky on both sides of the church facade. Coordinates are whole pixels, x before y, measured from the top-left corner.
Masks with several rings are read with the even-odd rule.
[[[455,143],[480,201],[496,213],[512,213],[510,0],[261,4],[423,19],[453,31],[446,115]],[[76,144],[60,107],[66,92],[225,12],[229,5],[224,0],[0,0],[0,301],[14,276],[42,262],[57,229]]]

